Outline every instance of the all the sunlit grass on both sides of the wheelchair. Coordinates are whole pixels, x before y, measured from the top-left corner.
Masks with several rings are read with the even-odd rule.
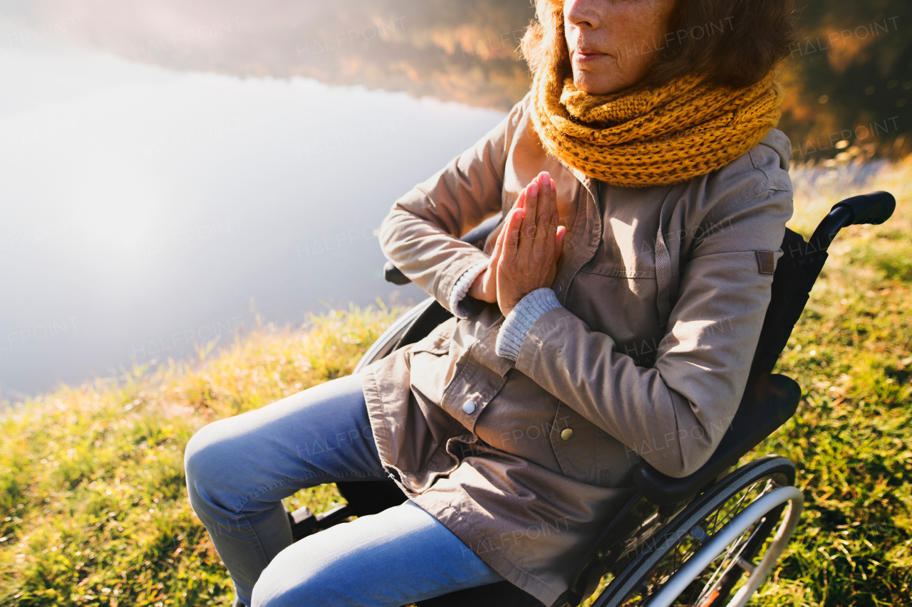
[[[750,458],[799,465],[802,523],[755,605],[912,604],[912,159],[793,170],[793,229],[834,201],[890,190],[883,226],[840,235],[782,355],[798,414]],[[63,386],[0,418],[0,606],[227,605],[232,587],[186,500],[183,447],[208,421],[354,369],[399,314],[349,308],[305,329],[265,325],[196,360],[118,384]],[[288,499],[315,511],[333,486]]]

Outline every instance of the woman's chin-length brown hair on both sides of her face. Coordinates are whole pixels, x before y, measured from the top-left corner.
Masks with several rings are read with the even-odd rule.
[[[523,57],[533,72],[557,66],[568,76],[564,0],[535,0],[535,14]],[[796,36],[793,0],[676,0],[664,48],[645,46],[657,55],[646,84],[702,74],[715,84],[747,87],[788,56]]]

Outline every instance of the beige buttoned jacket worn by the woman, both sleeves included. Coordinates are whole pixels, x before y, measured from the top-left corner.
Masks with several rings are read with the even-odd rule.
[[[634,464],[686,476],[734,416],[792,216],[791,144],[773,129],[677,191],[619,188],[545,155],[529,103],[396,201],[380,243],[449,308],[496,231],[485,252],[456,237],[547,170],[567,227],[552,285],[563,307],[538,318],[515,363],[495,353],[495,304],[451,318],[368,365],[364,393],[409,499],[550,605],[632,495]]]

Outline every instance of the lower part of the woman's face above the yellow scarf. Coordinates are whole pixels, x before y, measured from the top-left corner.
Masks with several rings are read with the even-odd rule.
[[[564,29],[576,88],[592,95],[637,84],[667,46],[675,0],[565,0]]]

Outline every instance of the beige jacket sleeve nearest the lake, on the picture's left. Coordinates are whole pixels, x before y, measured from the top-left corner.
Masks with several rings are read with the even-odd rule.
[[[488,261],[459,238],[501,211],[507,154],[524,102],[472,148],[394,202],[380,224],[387,259],[448,310],[462,274]]]

